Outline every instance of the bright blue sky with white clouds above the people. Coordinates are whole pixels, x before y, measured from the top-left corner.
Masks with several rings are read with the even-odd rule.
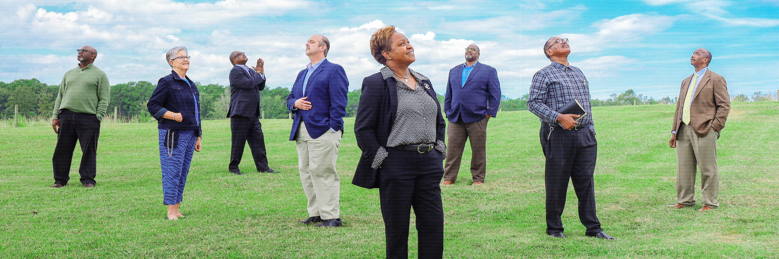
[[[518,98],[549,64],[541,48],[552,36],[570,39],[569,62],[590,82],[593,98],[634,89],[661,99],[679,94],[693,73],[698,47],[714,55],[731,96],[776,94],[779,1],[37,1],[0,4],[0,81],[58,84],[76,67],[85,44],[111,84],[157,82],[170,73],[164,53],[189,48],[187,75],[227,85],[227,56],[244,51],[266,61],[268,85],[291,87],[305,68],[305,40],[323,34],[328,59],[343,65],[350,89],[381,65],[369,53],[376,28],[397,26],[410,38],[411,68],[443,93],[449,68],[464,62],[468,44],[498,70],[502,92]]]

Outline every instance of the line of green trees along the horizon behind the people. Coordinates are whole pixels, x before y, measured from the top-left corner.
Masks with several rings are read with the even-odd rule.
[[[200,92],[200,109],[203,120],[224,119],[227,115],[227,107],[230,104],[230,87],[218,84],[201,85],[196,82]],[[151,82],[125,82],[111,86],[111,100],[108,104],[108,115],[114,115],[114,107],[117,110],[118,120],[121,121],[152,121],[153,118],[146,111],[146,103],[157,86]],[[48,86],[37,79],[18,79],[13,82],[0,82],[0,118],[13,117],[14,108],[18,105],[19,114],[23,117],[37,117],[46,119],[51,117],[54,101],[59,91],[58,85]],[[347,117],[354,117],[360,102],[360,89],[347,93]],[[287,96],[290,89],[276,87],[266,88],[260,91],[260,106],[265,118],[287,118]],[[617,106],[617,105],[643,105],[643,104],[673,104],[675,99],[666,96],[660,100],[654,100],[650,96],[636,93],[633,89],[624,93],[612,93],[607,100],[590,100],[593,107]],[[443,103],[443,96],[439,94],[439,102]],[[500,110],[527,110],[527,100],[530,94],[524,94],[520,98],[509,99],[502,96]],[[777,100],[771,93],[755,92],[752,96],[739,94],[731,98],[734,102],[746,101],[771,101]]]

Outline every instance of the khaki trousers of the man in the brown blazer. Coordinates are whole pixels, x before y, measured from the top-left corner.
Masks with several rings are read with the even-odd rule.
[[[703,138],[695,135],[693,127],[681,123],[676,132],[676,201],[684,206],[695,205],[696,165],[700,169],[700,188],[703,205],[717,208],[720,179],[717,174],[717,138],[712,128]]]

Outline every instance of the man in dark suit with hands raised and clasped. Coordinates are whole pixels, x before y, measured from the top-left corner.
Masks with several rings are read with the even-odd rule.
[[[238,164],[241,163],[244,144],[249,142],[257,171],[278,173],[268,166],[263,125],[259,123],[261,109],[259,91],[265,89],[263,59],[258,58],[257,66],[249,68],[246,66],[246,61],[249,61],[246,54],[233,51],[230,54],[230,61],[233,69],[230,71],[230,107],[227,110],[227,117],[230,118],[232,148],[227,170],[235,174],[243,174],[238,169]]]

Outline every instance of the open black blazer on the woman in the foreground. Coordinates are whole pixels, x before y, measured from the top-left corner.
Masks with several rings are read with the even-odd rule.
[[[435,117],[435,139],[444,141],[446,134],[446,121],[441,114],[441,104],[437,94],[432,88],[429,79],[420,82],[422,86],[428,84],[428,94],[433,97],[438,107]],[[397,85],[392,77],[382,79],[382,73],[369,75],[362,80],[362,93],[357,107],[357,117],[354,119],[354,135],[357,145],[362,150],[360,162],[351,184],[368,189],[379,187],[379,173],[381,168],[371,168],[371,163],[376,156],[379,146],[386,147],[387,138],[395,124],[397,113]]]

